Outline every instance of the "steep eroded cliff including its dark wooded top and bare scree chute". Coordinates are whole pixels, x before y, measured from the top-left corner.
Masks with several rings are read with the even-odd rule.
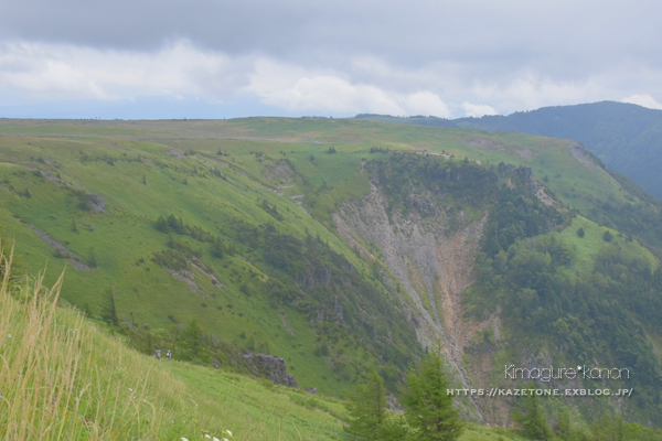
[[[419,343],[442,344],[457,387],[490,387],[494,356],[506,344],[502,308],[465,311],[466,288],[474,281],[478,252],[485,251],[481,244],[508,248],[560,222],[540,195],[551,196],[530,168],[395,155],[365,170],[370,192],[337,209],[338,234],[392,276],[386,284],[399,295]],[[479,421],[508,426],[510,404],[491,401],[468,397],[462,405]]]

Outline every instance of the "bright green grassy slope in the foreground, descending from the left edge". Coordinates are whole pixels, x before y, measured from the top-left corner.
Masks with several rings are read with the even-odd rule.
[[[20,288],[8,281],[0,288],[0,439],[351,439],[342,430],[341,401],[158,362],[57,308],[60,282],[49,290],[41,279]],[[517,439],[472,427],[461,440],[496,433]]]

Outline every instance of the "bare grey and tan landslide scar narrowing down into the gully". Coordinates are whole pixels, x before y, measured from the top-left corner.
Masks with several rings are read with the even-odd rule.
[[[421,200],[415,195],[410,195],[408,205],[406,214],[397,209],[388,213],[384,190],[373,178],[363,201],[343,204],[333,220],[340,236],[363,257],[375,259],[361,243],[378,249],[397,279],[394,290],[402,286],[403,303],[416,326],[418,341],[425,347],[441,341],[460,381],[472,387],[461,362],[476,326],[462,321],[460,295],[473,280],[471,268],[488,213],[471,222],[462,212],[449,215],[448,207],[434,197]],[[459,225],[449,228],[458,220]],[[474,409],[468,410],[476,411],[474,418],[483,419],[477,402]]]

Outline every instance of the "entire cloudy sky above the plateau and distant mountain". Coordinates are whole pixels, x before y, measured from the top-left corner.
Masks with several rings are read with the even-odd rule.
[[[662,108],[655,0],[22,0],[0,117]]]

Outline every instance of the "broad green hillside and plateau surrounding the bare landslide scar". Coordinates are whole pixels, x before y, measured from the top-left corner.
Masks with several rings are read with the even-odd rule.
[[[647,369],[640,385],[656,381],[660,362],[648,340],[660,333],[659,207],[572,141],[312,118],[0,120],[0,234],[17,240],[18,270],[36,273],[47,259],[52,284],[66,267],[63,299],[111,323],[140,352],[159,345],[178,361],[258,376],[268,373],[244,355],[271,354],[285,358],[299,389],[337,398],[374,367],[397,392],[425,342],[450,335],[456,320],[476,342],[483,318],[499,310],[503,335],[528,338],[522,347],[544,343],[560,320],[584,333],[575,353],[590,349],[610,362],[639,357]],[[466,295],[456,293],[465,299],[457,309],[445,303],[450,288],[423,260],[409,259],[398,272],[385,248],[389,239],[378,243],[338,224],[341,211],[367,209],[365,201],[377,193],[386,224],[370,212],[369,229],[380,225],[402,236],[405,219],[419,226],[437,219],[448,222],[441,236],[479,232],[471,233],[478,257],[453,267],[469,282]],[[523,277],[516,265],[526,252],[558,284]],[[629,265],[638,271],[630,280],[620,276]],[[412,279],[409,291],[402,289],[403,273]],[[594,291],[577,284],[594,273],[611,283],[608,300],[595,302]],[[476,277],[479,283],[470,284]],[[632,301],[623,300],[628,282],[638,283]],[[560,312],[545,290],[563,291]],[[522,299],[525,309],[512,306]],[[616,312],[621,306],[624,315]],[[618,322],[624,333],[618,344],[633,346],[607,354],[615,343],[597,333],[592,308]],[[540,327],[522,320],[534,312]],[[650,338],[641,343],[639,330]],[[540,355],[531,351],[498,353],[492,362]],[[450,356],[463,363],[461,354]],[[469,358],[469,369],[487,366]],[[196,372],[172,369],[180,377]],[[480,381],[460,367],[453,375],[458,385]],[[660,405],[658,392],[649,395],[640,407]],[[462,406],[482,418],[474,410],[481,405]],[[630,410],[634,418],[649,415]],[[581,411],[586,418],[596,409]]]

